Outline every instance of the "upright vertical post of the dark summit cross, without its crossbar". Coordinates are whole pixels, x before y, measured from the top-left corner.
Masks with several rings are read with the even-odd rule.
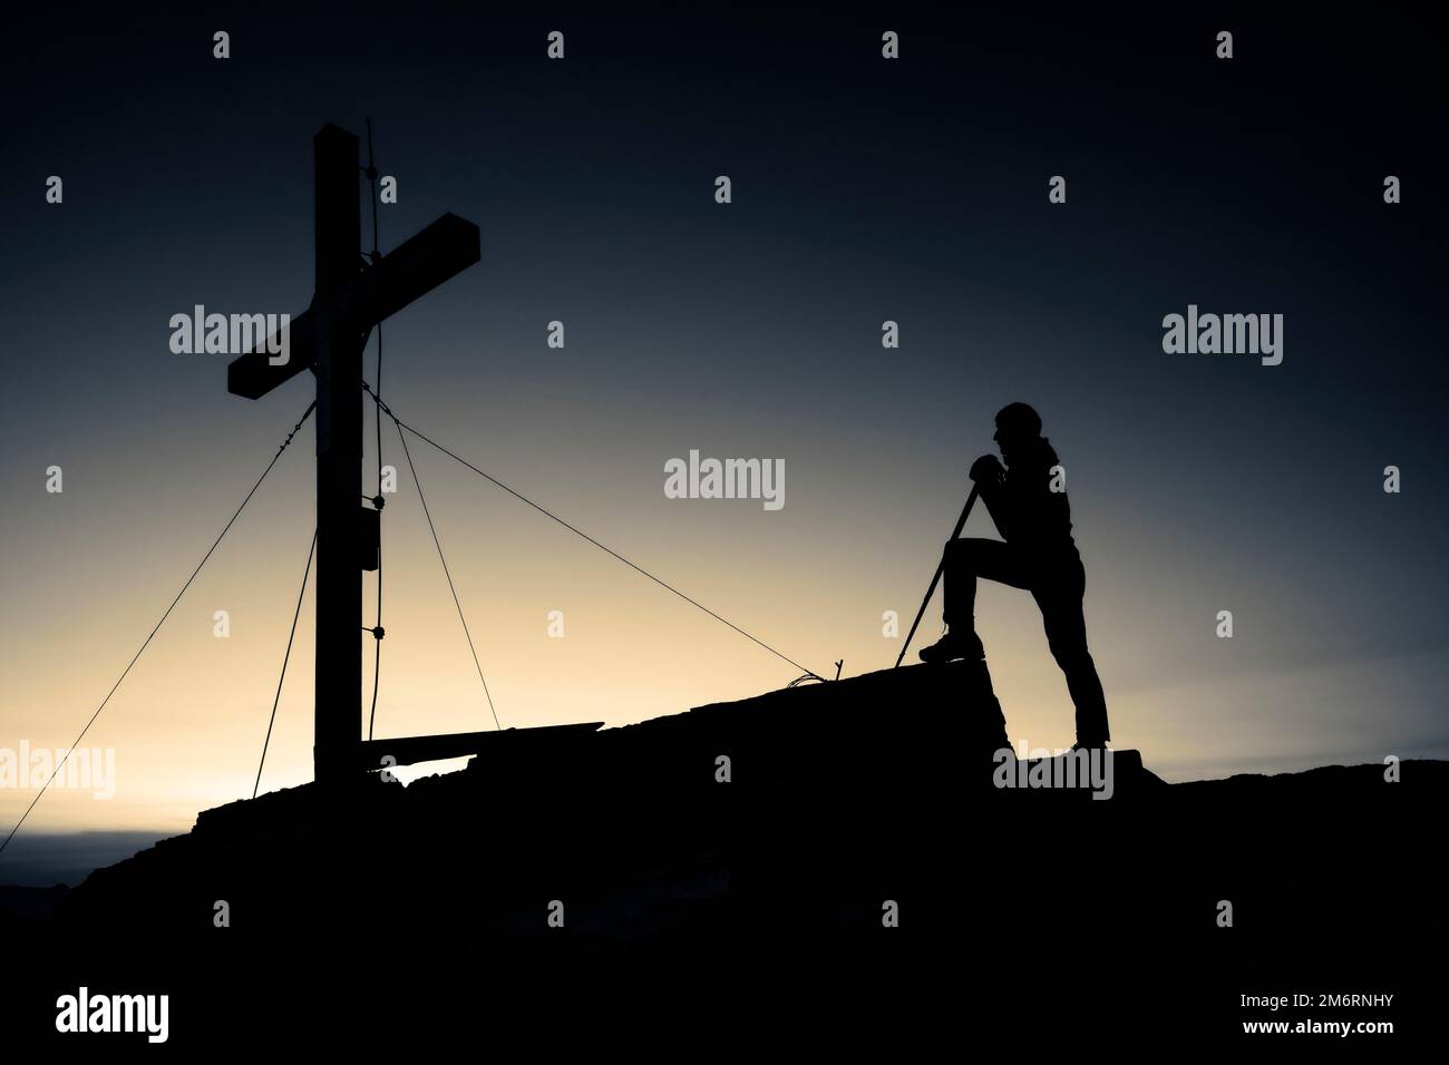
[[[361,271],[358,139],[313,138],[316,165],[317,677],[313,768],[322,785],[354,777],[362,678],[362,342],[346,307]]]

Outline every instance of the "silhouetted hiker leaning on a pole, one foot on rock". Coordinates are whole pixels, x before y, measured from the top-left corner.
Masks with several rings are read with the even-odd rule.
[[[1087,574],[1072,540],[1071,507],[1066,493],[1051,487],[1056,452],[1042,436],[1040,416],[1024,403],[1003,407],[995,423],[993,439],[1006,468],[995,455],[982,455],[971,465],[971,480],[1006,540],[961,538],[946,545],[948,632],[920,658],[949,662],[985,656],[977,636],[977,577],[1026,588],[1042,609],[1046,642],[1077,704],[1077,745],[1100,748],[1110,739],[1107,700],[1087,652]]]

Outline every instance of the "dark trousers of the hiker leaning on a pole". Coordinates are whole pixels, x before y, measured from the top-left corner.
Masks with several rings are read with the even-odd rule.
[[[1087,619],[1082,616],[1087,572],[1081,556],[1072,552],[1061,561],[1043,562],[1004,540],[952,540],[946,545],[946,625],[975,627],[978,577],[1032,593],[1042,610],[1046,645],[1066,675],[1066,690],[1077,706],[1077,742],[1098,745],[1110,739],[1107,697],[1087,651]]]

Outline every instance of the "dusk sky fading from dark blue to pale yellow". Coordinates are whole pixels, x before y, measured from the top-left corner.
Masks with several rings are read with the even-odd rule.
[[[909,623],[991,414],[1026,400],[1068,469],[1117,746],[1171,780],[1449,753],[1442,114],[1421,28],[1217,4],[961,23],[901,4],[529,7],[9,16],[0,746],[71,742],[307,406],[310,377],[229,396],[227,359],[171,354],[167,323],[306,306],[312,135],[371,116],[400,185],[383,248],[446,210],[483,230],[478,267],[388,322],[388,401],[791,658],[894,661],[881,613]],[[900,61],[880,58],[884,29]],[[1284,314],[1282,365],[1165,355],[1162,316],[1188,303]],[[55,791],[28,830],[184,830],[249,794],[312,445],[309,426],[87,736],[116,749],[116,797]],[[665,498],[664,462],[691,448],[784,459],[784,509]],[[384,458],[403,472],[377,735],[488,727],[396,435]],[[414,458],[504,726],[617,724],[796,675]],[[984,514],[969,532],[994,535]],[[264,788],[310,777],[310,609]],[[1030,597],[985,587],[978,627],[1011,736],[1069,743]],[[917,643],[938,632],[933,610]],[[0,791],[6,830],[30,797]]]

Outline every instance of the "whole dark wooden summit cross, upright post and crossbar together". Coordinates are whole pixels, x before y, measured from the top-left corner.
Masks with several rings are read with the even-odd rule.
[[[478,227],[443,214],[364,267],[358,139],[313,138],[316,287],[290,329],[283,365],[265,345],[235,359],[227,391],[255,400],[303,369],[317,380],[317,680],[313,767],[319,784],[356,774],[362,752],[362,348],[383,319],[480,258]],[[274,345],[275,348],[275,345]]]

